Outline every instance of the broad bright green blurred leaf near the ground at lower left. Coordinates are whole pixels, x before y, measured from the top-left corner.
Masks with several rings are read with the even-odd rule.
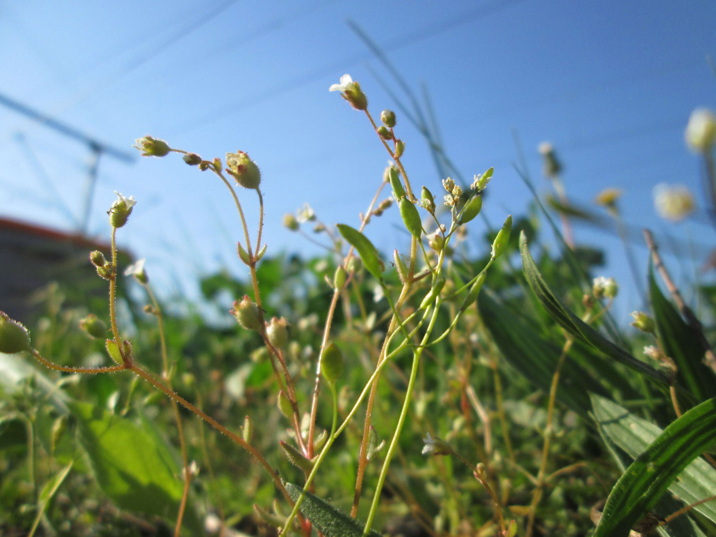
[[[79,437],[97,483],[120,508],[176,517],[183,492],[180,470],[167,446],[146,427],[102,407],[74,402]]]

